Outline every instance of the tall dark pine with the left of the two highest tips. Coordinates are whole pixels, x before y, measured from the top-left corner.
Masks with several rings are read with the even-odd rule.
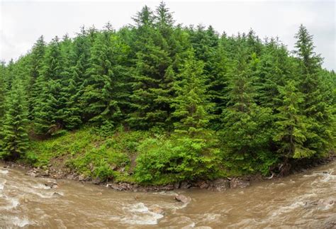
[[[164,48],[167,43],[153,28],[153,17],[152,11],[145,7],[134,18],[138,25],[138,50],[132,76],[133,94],[130,96],[133,112],[127,121],[133,128],[139,129],[148,129],[155,125],[164,127],[169,117],[169,104],[167,100],[162,100],[162,93],[169,84],[166,71],[171,65],[171,59]]]

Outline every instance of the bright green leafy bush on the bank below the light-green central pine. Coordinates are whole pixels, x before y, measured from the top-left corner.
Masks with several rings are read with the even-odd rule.
[[[138,147],[135,180],[143,184],[169,184],[213,179],[218,175],[218,151],[204,140],[149,138]]]

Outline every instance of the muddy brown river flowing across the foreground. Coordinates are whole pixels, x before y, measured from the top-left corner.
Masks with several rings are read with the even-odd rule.
[[[335,169],[332,162],[221,193],[134,193],[67,180],[48,189],[50,179],[0,164],[0,228],[336,228]],[[174,201],[177,193],[191,202]]]

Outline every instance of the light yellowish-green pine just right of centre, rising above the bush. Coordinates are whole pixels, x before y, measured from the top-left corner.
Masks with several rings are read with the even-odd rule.
[[[206,94],[204,63],[195,60],[194,52],[189,50],[188,59],[181,66],[180,74],[174,82],[176,98],[173,101],[172,116],[179,121],[174,123],[175,132],[190,137],[205,138],[206,128],[211,120],[213,104]]]

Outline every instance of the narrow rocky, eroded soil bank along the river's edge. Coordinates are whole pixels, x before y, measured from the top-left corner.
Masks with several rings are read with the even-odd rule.
[[[316,161],[296,162],[291,164],[291,169],[288,174],[297,174],[306,172],[308,169],[318,167],[321,164],[327,164],[335,160],[335,156],[327,157],[325,159]],[[167,185],[141,185],[131,184],[125,182],[115,181],[101,181],[99,179],[93,179],[91,177],[84,177],[81,174],[76,174],[65,167],[57,167],[57,164],[50,167],[39,168],[30,167],[26,164],[14,163],[14,162],[2,162],[4,167],[15,167],[23,169],[25,174],[30,177],[49,177],[55,180],[69,179],[80,182],[89,182],[92,184],[102,185],[115,189],[117,191],[172,191],[175,189],[207,189],[209,191],[225,191],[227,189],[245,188],[250,184],[258,183],[260,181],[281,179],[282,174],[272,174],[271,177],[263,177],[262,175],[250,175],[245,177],[227,177],[222,179],[199,180],[199,181],[182,181],[176,184]]]

